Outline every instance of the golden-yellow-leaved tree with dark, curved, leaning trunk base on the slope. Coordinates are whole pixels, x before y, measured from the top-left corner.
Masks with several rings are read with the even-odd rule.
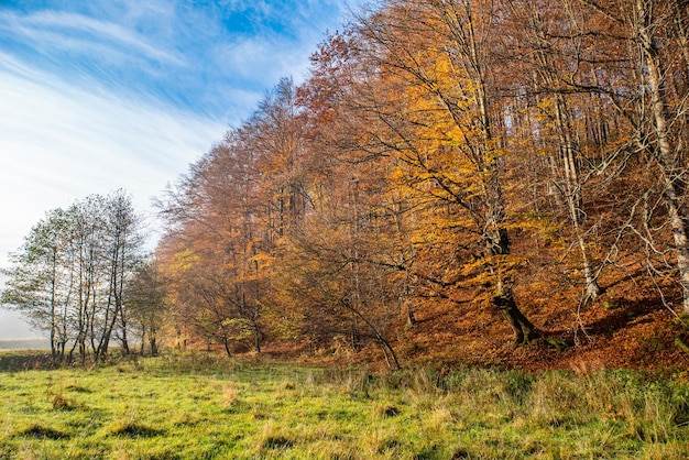
[[[467,0],[393,1],[362,17],[359,51],[371,77],[359,106],[365,124],[376,127],[369,139],[378,140],[380,154],[395,157],[396,175],[419,202],[435,216],[440,212],[433,207],[450,211],[439,228],[458,237],[450,253],[467,258],[459,272],[481,269],[477,282],[491,286],[491,304],[516,342],[526,343],[537,330],[513,297],[505,152],[495,135],[493,19],[491,2]],[[456,285],[457,274],[440,285]]]

